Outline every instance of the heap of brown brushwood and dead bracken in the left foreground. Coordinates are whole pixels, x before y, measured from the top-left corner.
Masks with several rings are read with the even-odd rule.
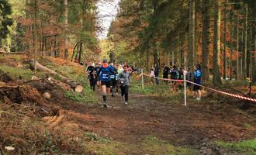
[[[14,81],[0,70],[0,154],[92,154],[58,127],[70,89],[53,77]]]

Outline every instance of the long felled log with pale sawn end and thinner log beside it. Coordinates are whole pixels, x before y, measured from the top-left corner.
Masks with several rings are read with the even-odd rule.
[[[56,84],[61,85],[61,87],[66,89],[66,90],[68,90],[68,89],[67,89],[67,86],[65,84],[68,84],[69,87],[72,90],[74,90],[75,92],[81,93],[83,91],[83,86],[81,84],[79,84],[78,81],[74,81],[74,80],[71,80],[67,77],[64,77],[63,75],[58,74],[56,71],[53,71],[48,67],[44,67],[42,64],[38,63],[35,60],[29,61],[29,65],[30,65],[30,68],[33,68],[33,70],[35,69],[35,66],[36,66],[37,71],[46,71],[50,74],[54,74],[54,75],[57,75],[58,77],[61,77],[62,84],[61,84],[61,81],[57,81],[53,77],[50,77],[50,79],[48,79],[48,80],[52,81]],[[63,84],[63,83],[65,83],[65,84]]]

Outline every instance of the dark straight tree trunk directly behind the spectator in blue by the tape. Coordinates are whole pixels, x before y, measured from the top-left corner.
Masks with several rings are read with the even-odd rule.
[[[209,81],[209,0],[202,8],[202,80]],[[191,68],[192,69],[192,68]]]

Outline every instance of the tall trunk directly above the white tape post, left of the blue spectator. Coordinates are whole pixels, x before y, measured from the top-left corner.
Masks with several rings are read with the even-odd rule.
[[[189,64],[185,64],[185,67],[193,68],[195,63],[195,0],[189,1],[189,54],[186,56]]]

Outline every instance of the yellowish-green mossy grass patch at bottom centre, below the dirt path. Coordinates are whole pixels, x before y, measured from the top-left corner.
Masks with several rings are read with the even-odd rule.
[[[87,143],[88,150],[97,154],[168,154],[168,155],[197,155],[199,151],[192,150],[189,147],[173,146],[164,140],[154,136],[146,136],[144,140],[137,144],[120,143]]]

